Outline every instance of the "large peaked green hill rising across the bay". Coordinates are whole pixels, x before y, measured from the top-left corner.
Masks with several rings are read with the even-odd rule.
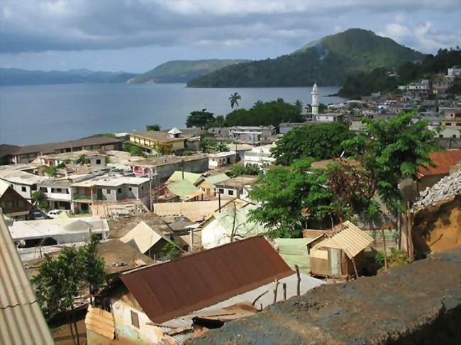
[[[289,55],[223,67],[189,81],[187,86],[311,86],[314,81],[323,86],[340,85],[349,74],[395,67],[423,57],[421,52],[370,30],[349,29]]]

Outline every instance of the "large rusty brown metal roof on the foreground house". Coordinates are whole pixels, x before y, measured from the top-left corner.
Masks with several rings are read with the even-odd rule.
[[[155,323],[186,315],[293,274],[264,237],[123,273],[121,280]]]

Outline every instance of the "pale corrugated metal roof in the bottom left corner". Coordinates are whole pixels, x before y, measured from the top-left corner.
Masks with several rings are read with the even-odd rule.
[[[0,344],[54,344],[0,213]]]

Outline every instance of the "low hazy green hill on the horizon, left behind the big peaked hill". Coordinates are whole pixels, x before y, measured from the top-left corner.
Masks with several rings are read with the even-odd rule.
[[[145,83],[186,83],[203,74],[230,64],[248,62],[249,60],[174,60],[151,69],[148,72],[136,74],[128,80],[129,84]]]

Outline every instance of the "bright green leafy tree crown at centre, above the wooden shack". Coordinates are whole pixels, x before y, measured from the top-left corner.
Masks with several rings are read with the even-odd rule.
[[[299,237],[306,217],[323,220],[344,213],[343,205],[332,203],[325,170],[309,171],[312,159],[295,160],[291,167],[276,166],[252,187],[250,198],[261,203],[250,213],[262,223],[270,237]],[[304,213],[304,215],[303,215]]]

